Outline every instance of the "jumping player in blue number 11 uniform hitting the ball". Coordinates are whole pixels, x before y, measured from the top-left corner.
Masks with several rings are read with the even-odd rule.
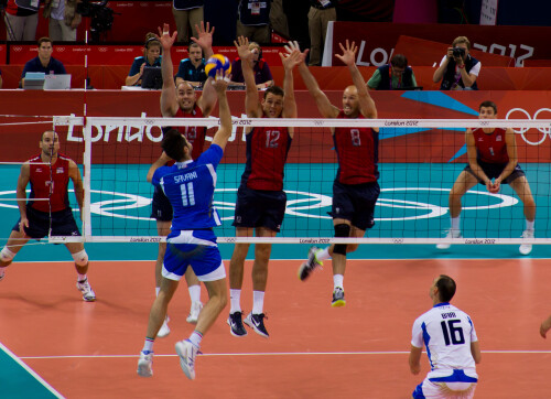
[[[213,231],[213,227],[220,224],[213,208],[213,196],[216,168],[231,134],[231,116],[226,98],[229,76],[218,73],[212,82],[219,103],[220,127],[208,150],[193,160],[193,145],[177,130],[171,129],[162,141],[163,154],[148,172],[148,181],[162,188],[171,202],[174,216],[166,238],[161,291],[151,306],[145,344],[138,362],[138,375],[142,377],[153,375],[153,342],[163,324],[169,302],[188,267],[206,285],[208,301],[190,338],[176,343],[180,365],[187,378],[195,378],[195,356],[203,335],[227,303],[226,271]],[[176,163],[164,166],[170,160]]]

